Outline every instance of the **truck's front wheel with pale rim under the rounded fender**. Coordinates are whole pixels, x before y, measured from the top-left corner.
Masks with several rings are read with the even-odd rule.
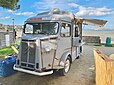
[[[68,57],[65,61],[64,68],[59,70],[59,74],[61,76],[65,76],[69,72],[70,67],[71,67],[71,61],[70,58]]]

